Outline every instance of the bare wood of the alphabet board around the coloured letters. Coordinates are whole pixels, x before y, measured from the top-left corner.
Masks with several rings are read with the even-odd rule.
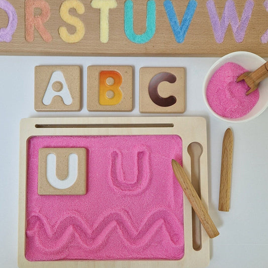
[[[63,0],[47,0],[50,17],[44,23],[52,36],[52,41],[45,42],[38,31],[34,30],[34,40],[25,39],[25,1],[10,0],[18,15],[17,29],[10,43],[0,43],[0,54],[10,55],[114,55],[114,56],[222,56],[233,51],[250,51],[260,56],[268,56],[268,44],[261,42],[261,37],[268,29],[268,12],[263,1],[254,1],[252,15],[245,32],[244,39],[237,43],[229,24],[222,43],[215,41],[212,24],[206,7],[207,0],[197,0],[197,8],[192,22],[182,43],[178,43],[172,33],[165,12],[163,0],[155,0],[156,29],[153,37],[144,44],[129,40],[124,30],[124,3],[117,1],[117,8],[109,10],[109,40],[100,39],[100,9],[92,8],[88,0],[80,0],[84,13],[77,14],[70,9],[69,14],[78,18],[84,25],[84,36],[77,43],[66,43],[59,36],[59,27],[66,27],[69,34],[76,29],[64,22],[59,15]],[[221,19],[226,1],[215,0],[218,18]],[[239,22],[245,7],[243,0],[235,0]],[[189,0],[172,1],[178,22],[181,24]],[[1,10],[0,25],[7,25],[7,15]],[[5,16],[4,16],[5,15]],[[146,2],[133,0],[134,32],[142,34],[146,31]]]

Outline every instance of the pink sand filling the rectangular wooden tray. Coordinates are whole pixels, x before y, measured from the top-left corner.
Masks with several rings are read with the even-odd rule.
[[[39,196],[38,150],[87,149],[87,193]],[[182,163],[176,135],[33,137],[28,144],[26,258],[181,259]]]

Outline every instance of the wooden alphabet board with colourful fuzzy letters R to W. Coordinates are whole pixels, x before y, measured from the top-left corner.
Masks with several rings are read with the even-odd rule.
[[[0,15],[0,54],[268,56],[267,0],[1,0]]]

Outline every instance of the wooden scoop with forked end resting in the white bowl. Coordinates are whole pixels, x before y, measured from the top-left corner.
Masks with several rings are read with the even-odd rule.
[[[236,82],[245,80],[246,84],[250,87],[250,90],[246,92],[246,95],[255,91],[260,81],[268,77],[268,61],[261,65],[253,72],[244,72],[236,79]]]

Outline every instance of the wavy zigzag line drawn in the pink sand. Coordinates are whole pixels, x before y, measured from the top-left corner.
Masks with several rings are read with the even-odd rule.
[[[35,239],[37,247],[47,252],[68,250],[73,240],[86,249],[96,250],[105,243],[114,228],[119,237],[130,248],[144,246],[157,234],[161,226],[175,246],[184,244],[183,222],[166,209],[158,209],[144,218],[137,228],[127,211],[112,211],[96,221],[93,227],[77,213],[63,216],[54,226],[40,213],[33,213],[27,220],[26,235]]]

